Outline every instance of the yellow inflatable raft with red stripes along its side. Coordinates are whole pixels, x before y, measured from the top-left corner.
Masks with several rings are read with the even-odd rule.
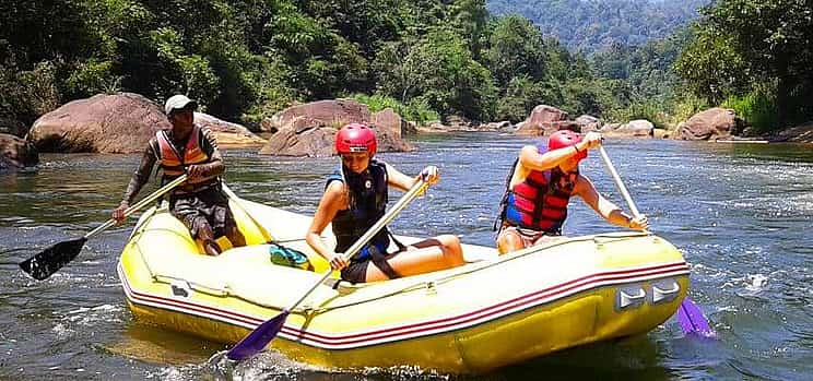
[[[309,217],[245,200],[232,206],[249,246],[220,257],[200,254],[165,209],[142,215],[118,265],[137,319],[234,344],[317,282],[327,264],[302,238]],[[273,264],[268,238],[307,253],[316,272]],[[678,310],[688,282],[674,246],[647,234],[575,237],[502,257],[463,250],[470,262],[457,269],[373,284],[331,278],[270,346],[328,368],[484,372],[646,333]]]

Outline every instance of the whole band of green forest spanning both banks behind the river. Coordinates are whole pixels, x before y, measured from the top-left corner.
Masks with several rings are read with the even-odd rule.
[[[589,22],[581,5],[633,12],[550,2],[573,12],[573,33]],[[588,55],[482,0],[11,0],[0,4],[0,131],[23,134],[61,104],[120,91],[185,93],[249,128],[337,97],[417,122],[517,122],[539,104],[659,127],[723,105],[755,132],[813,119],[813,1],[718,0],[672,23],[702,2],[651,8],[663,14],[636,20],[668,34],[617,28],[625,38]]]

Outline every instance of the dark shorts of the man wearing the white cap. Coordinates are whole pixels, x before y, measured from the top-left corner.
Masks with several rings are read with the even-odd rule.
[[[189,228],[192,238],[198,238],[207,225],[214,238],[225,236],[226,231],[237,227],[228,209],[228,199],[217,186],[195,193],[170,195],[169,211]]]

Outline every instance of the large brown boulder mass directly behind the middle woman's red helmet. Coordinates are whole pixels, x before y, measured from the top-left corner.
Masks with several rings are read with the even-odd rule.
[[[278,131],[269,138],[260,154],[311,157],[334,155],[335,132],[352,122],[368,123],[376,131],[378,152],[412,151],[413,147],[401,138],[401,117],[394,111],[389,114],[390,111],[381,115],[376,123],[370,120],[367,106],[351,99],[318,100],[293,106],[266,120],[263,129],[271,131],[273,128]]]

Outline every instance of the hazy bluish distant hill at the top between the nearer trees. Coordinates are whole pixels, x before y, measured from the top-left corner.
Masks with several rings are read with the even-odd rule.
[[[520,14],[572,50],[640,46],[672,34],[711,0],[487,0],[496,15]]]

